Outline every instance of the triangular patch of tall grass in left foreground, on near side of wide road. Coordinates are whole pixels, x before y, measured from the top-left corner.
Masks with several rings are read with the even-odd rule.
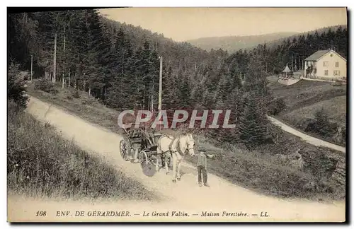
[[[144,199],[142,184],[62,139],[50,124],[8,103],[8,190],[67,199]]]

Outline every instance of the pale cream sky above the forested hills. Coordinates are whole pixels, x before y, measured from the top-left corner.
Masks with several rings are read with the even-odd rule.
[[[346,8],[104,8],[101,14],[176,41],[307,32],[346,25]]]

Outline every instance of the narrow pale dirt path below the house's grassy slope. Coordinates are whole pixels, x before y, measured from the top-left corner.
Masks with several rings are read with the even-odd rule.
[[[332,148],[333,150],[336,150],[336,151],[341,151],[342,153],[346,153],[346,148],[343,146],[337,146],[333,143],[329,143],[328,141],[316,139],[313,136],[309,136],[307,134],[302,133],[301,131],[298,131],[297,129],[289,127],[287,124],[280,122],[278,119],[275,119],[270,116],[267,116],[267,117],[268,117],[268,119],[270,119],[270,122],[273,122],[273,124],[277,125],[278,127],[281,127],[282,130],[287,131],[290,134],[294,134],[295,136],[300,137],[304,141],[307,141],[308,143],[310,143],[314,146],[324,146],[327,148]]]

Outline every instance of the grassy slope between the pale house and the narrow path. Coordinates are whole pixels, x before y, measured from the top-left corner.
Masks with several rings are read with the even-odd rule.
[[[340,126],[346,126],[346,85],[321,81],[302,80],[291,86],[284,86],[277,82],[268,84],[275,98],[282,98],[287,105],[286,109],[277,115],[292,127],[305,131],[307,119],[313,118],[317,109],[324,107],[330,114],[330,121]],[[346,142],[336,142],[332,137],[308,133],[316,138],[330,141],[342,146]]]

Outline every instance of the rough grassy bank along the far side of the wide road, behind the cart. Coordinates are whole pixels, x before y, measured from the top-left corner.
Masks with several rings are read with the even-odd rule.
[[[65,98],[66,94],[67,92],[59,92],[57,95],[37,92],[35,95],[42,100],[55,101],[55,104],[95,124],[120,132],[115,122],[118,112],[107,107],[101,109],[101,104],[94,107],[96,103],[82,105],[81,98],[69,100]],[[96,112],[86,113],[84,106],[89,106],[85,109]],[[109,122],[105,119],[107,116]],[[174,136],[179,134],[171,129],[166,133]],[[215,160],[208,160],[208,172],[241,187],[287,198],[331,201],[344,199],[346,196],[345,184],[338,184],[332,177],[338,163],[345,165],[344,155],[336,151],[314,147],[287,133],[281,134],[278,145],[266,145],[253,151],[246,150],[242,145],[220,144],[202,134],[196,134],[195,139],[198,145],[216,155]],[[303,159],[301,168],[291,165],[292,155],[297,150],[300,150]],[[195,163],[195,158],[185,158],[190,163]]]

